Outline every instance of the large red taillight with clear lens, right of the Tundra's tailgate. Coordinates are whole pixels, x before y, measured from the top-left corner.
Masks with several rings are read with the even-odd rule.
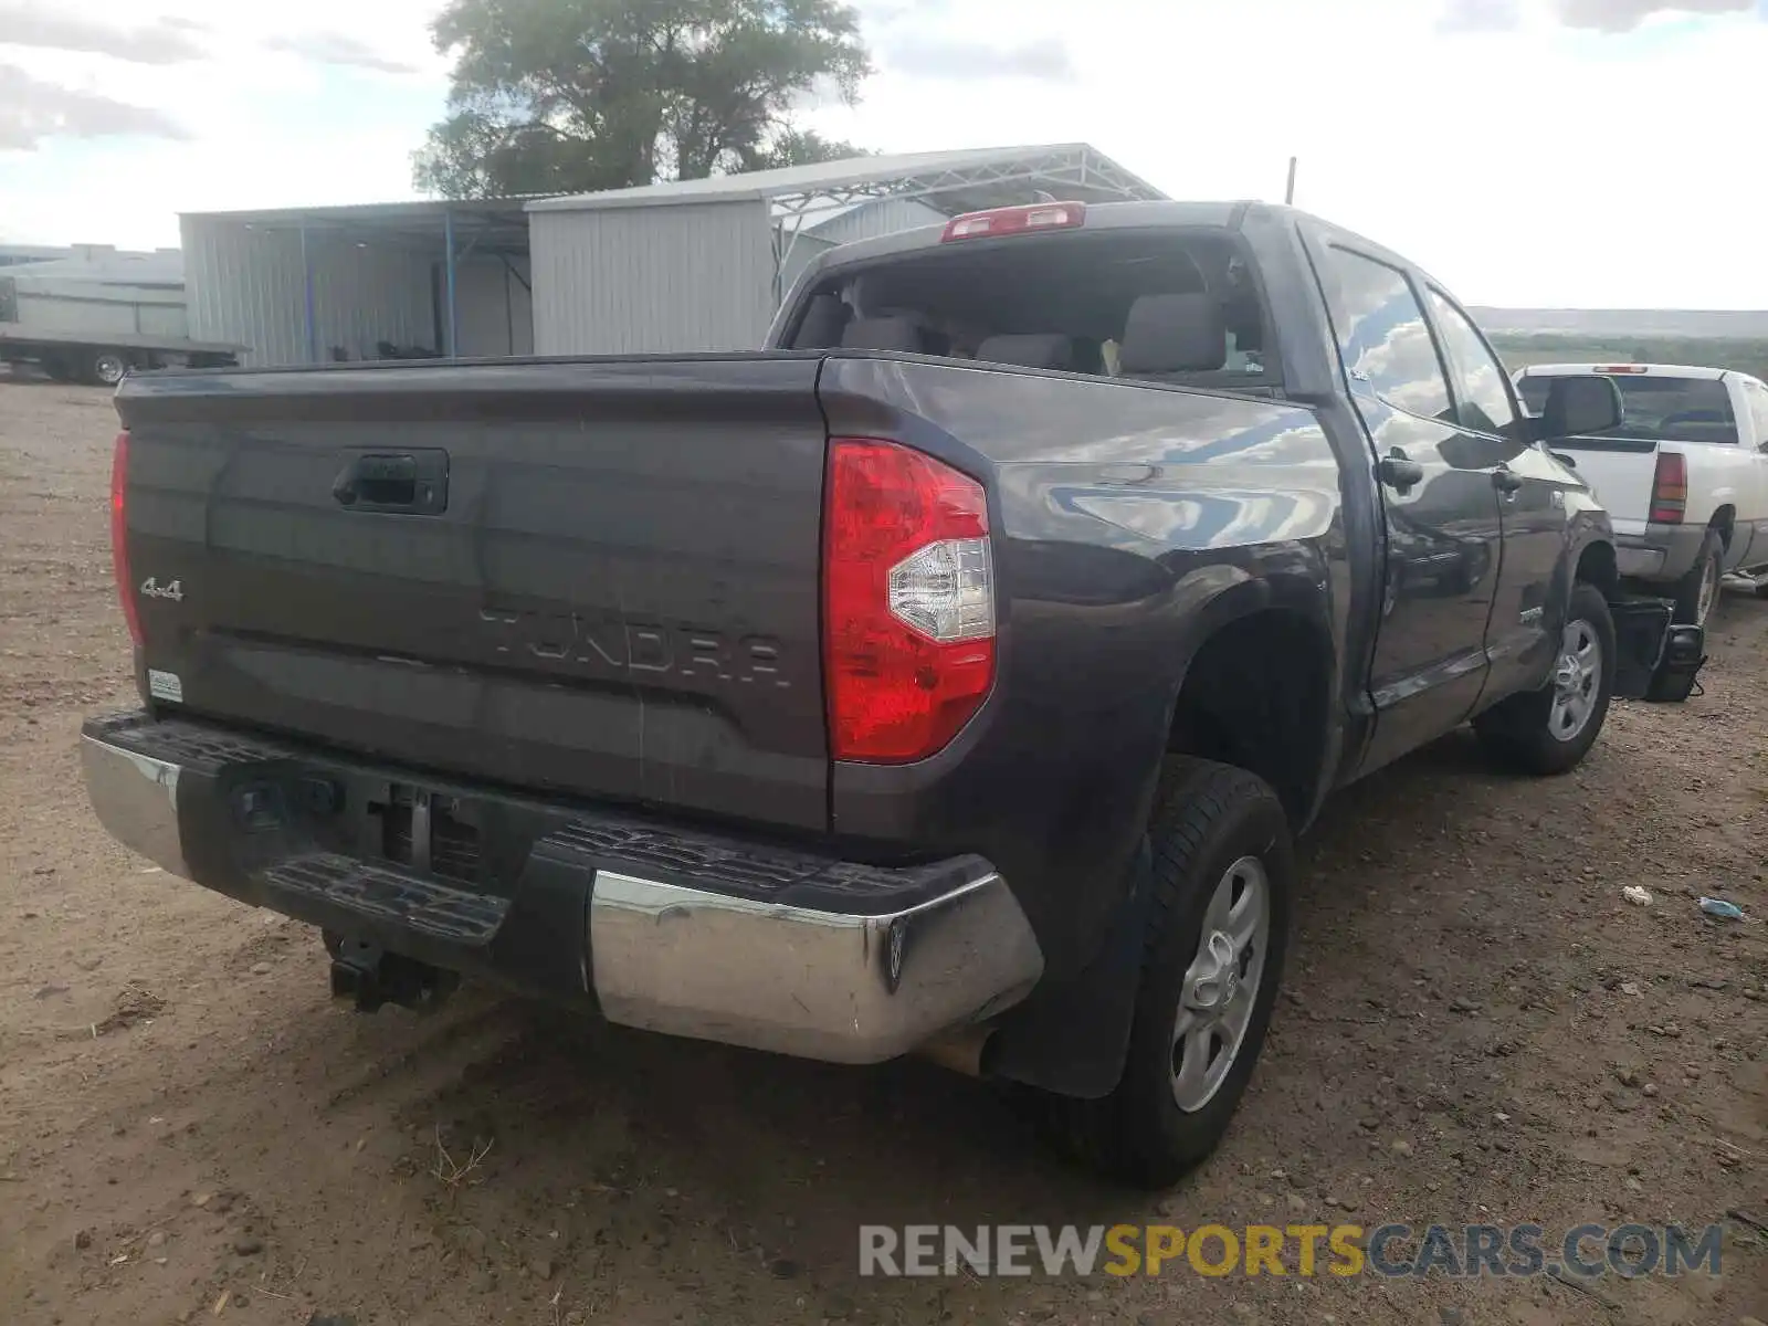
[[[983,488],[895,442],[834,438],[822,537],[829,748],[868,764],[926,758],[994,686]]]

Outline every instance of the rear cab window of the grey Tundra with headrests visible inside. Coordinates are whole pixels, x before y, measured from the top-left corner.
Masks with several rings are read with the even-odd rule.
[[[1282,366],[1252,255],[1222,226],[972,239],[829,271],[794,350],[895,350],[1269,394]]]

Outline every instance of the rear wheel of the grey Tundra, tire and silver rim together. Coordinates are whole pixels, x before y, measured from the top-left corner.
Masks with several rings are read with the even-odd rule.
[[[1050,1098],[1059,1139],[1110,1177],[1165,1188],[1215,1151],[1252,1077],[1282,978],[1294,859],[1276,794],[1176,757],[1149,824],[1153,896],[1123,1078]]]

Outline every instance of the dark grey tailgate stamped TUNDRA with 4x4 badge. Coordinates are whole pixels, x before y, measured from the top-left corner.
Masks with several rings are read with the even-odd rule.
[[[391,762],[822,829],[817,370],[129,378],[149,688]]]

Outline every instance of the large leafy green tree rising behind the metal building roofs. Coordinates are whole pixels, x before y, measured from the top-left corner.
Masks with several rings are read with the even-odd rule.
[[[792,124],[872,71],[842,0],[449,0],[449,115],[414,154],[446,198],[585,193],[854,154]]]

